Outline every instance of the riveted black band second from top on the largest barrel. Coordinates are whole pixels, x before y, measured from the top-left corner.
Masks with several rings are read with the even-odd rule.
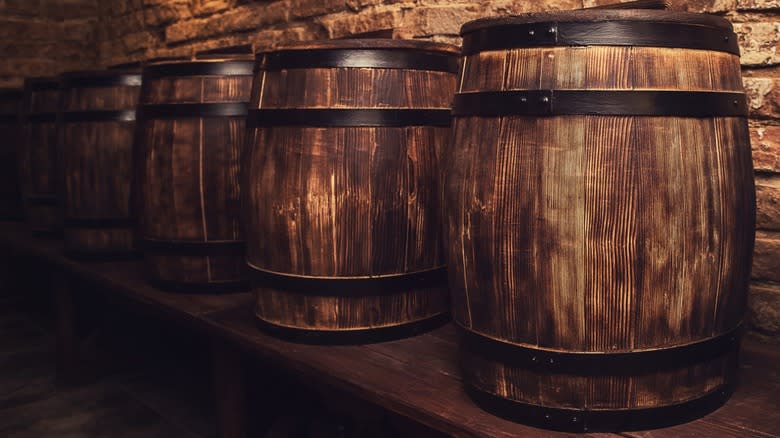
[[[631,115],[744,117],[744,93],[709,91],[520,90],[460,93],[453,115]]]

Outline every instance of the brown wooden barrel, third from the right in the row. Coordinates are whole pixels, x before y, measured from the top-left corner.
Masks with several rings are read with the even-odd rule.
[[[254,59],[143,69],[137,144],[149,280],[182,292],[248,287],[239,164]]]

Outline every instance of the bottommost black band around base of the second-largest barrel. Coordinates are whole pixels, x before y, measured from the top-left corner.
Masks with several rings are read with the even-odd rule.
[[[280,326],[255,317],[257,326],[280,339],[302,344],[348,345],[371,344],[409,338],[437,329],[450,321],[449,313],[406,324],[358,330],[308,330]]]

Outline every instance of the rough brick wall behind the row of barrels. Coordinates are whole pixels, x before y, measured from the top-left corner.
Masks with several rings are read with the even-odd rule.
[[[343,37],[395,29],[457,43],[482,16],[573,9],[614,0],[0,0],[0,85],[21,76],[190,55],[224,45]],[[780,342],[780,0],[674,0],[734,23],[750,94],[758,217],[751,321]],[[9,28],[4,22],[11,23]],[[23,37],[9,44],[15,37]],[[10,62],[9,62],[10,61]]]

